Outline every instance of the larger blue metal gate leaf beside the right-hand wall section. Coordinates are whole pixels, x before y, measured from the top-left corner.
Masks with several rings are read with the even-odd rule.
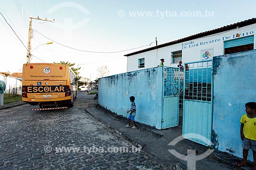
[[[184,69],[182,135],[203,145],[211,145],[213,89],[211,63],[211,60],[185,63],[188,68]],[[191,138],[191,134],[201,138]]]

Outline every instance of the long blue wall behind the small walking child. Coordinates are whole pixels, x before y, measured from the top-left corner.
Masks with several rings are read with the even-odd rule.
[[[161,129],[163,67],[148,68],[99,79],[99,105],[127,117],[135,96],[137,122]]]

